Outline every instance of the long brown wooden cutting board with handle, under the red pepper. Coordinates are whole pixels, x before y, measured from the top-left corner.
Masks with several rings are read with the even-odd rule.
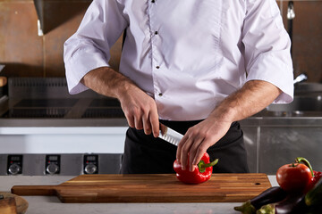
[[[61,185],[14,185],[18,195],[56,195],[61,202],[245,202],[271,187],[266,174],[213,174],[186,185],[174,174],[82,175]]]

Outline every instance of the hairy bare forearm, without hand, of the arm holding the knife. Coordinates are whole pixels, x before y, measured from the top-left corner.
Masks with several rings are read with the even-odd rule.
[[[80,82],[100,95],[114,97],[119,100],[131,87],[137,88],[130,78],[109,67],[89,71],[81,78]]]

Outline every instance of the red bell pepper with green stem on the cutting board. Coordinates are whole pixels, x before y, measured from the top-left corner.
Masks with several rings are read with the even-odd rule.
[[[176,172],[176,177],[183,183],[187,184],[199,184],[211,177],[213,166],[216,165],[218,159],[210,162],[210,158],[207,152],[204,153],[201,160],[195,167],[193,171],[189,169],[189,163],[185,170],[182,170],[182,165],[178,161],[174,161],[174,171]]]

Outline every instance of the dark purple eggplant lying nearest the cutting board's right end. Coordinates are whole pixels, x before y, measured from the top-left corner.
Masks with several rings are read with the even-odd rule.
[[[233,209],[243,214],[255,214],[256,210],[266,204],[281,202],[286,198],[286,195],[287,193],[280,186],[273,186],[258,194],[255,198],[244,202],[242,206],[234,207]]]

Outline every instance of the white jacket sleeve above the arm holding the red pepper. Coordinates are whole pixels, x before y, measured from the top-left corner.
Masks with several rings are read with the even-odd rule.
[[[265,80],[282,90],[274,103],[291,103],[293,73],[291,41],[275,0],[246,0],[242,44],[246,81]]]

